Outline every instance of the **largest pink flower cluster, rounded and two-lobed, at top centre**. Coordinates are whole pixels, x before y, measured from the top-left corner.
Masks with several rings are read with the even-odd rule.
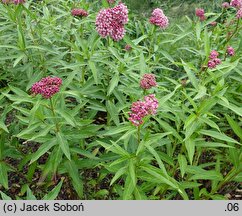
[[[110,36],[113,40],[119,41],[124,37],[124,25],[128,23],[128,8],[120,2],[114,8],[101,10],[96,18],[96,30],[105,38]]]

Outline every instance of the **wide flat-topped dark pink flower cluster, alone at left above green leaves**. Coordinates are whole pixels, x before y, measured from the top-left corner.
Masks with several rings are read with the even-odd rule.
[[[59,77],[45,77],[39,82],[32,85],[31,92],[34,94],[41,94],[42,97],[48,99],[60,91],[62,79]]]

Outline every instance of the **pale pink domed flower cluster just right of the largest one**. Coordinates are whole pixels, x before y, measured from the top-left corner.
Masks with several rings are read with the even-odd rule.
[[[152,12],[150,23],[165,29],[169,25],[169,20],[160,8],[156,8]]]

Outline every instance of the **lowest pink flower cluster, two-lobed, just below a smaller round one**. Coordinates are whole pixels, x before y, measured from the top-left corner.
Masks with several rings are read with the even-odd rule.
[[[158,100],[154,94],[145,96],[144,101],[136,101],[131,106],[129,120],[134,126],[143,123],[143,118],[147,115],[155,115],[158,108]]]

